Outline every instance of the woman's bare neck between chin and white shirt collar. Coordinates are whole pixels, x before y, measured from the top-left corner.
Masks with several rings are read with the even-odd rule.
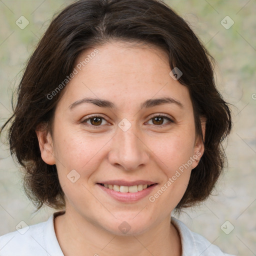
[[[170,216],[138,235],[115,235],[70,210],[55,217],[54,228],[65,256],[180,256],[181,242]]]

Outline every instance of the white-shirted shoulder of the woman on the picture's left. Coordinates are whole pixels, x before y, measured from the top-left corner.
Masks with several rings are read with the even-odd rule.
[[[54,232],[54,215],[47,221],[0,236],[0,256],[63,256]],[[23,223],[24,224],[24,223]]]

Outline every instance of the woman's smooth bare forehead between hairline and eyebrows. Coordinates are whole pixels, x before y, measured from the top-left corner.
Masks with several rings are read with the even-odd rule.
[[[118,107],[131,107],[148,98],[171,96],[191,105],[188,89],[169,75],[167,53],[156,46],[105,43],[82,52],[74,68],[77,74],[63,95],[69,103],[97,97],[114,101]]]

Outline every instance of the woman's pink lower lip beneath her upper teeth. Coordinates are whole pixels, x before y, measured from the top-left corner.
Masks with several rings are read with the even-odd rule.
[[[118,201],[121,201],[121,202],[133,202],[133,201],[138,201],[140,199],[142,199],[143,197],[147,196],[151,191],[152,189],[154,189],[154,187],[157,185],[157,184],[153,184],[141,191],[137,191],[137,192],[134,192],[134,193],[131,193],[131,192],[117,192],[117,191],[114,191],[113,189],[109,189],[109,188],[106,188],[100,184],[96,184],[98,185],[104,192],[106,192],[107,194],[109,194],[110,196],[112,196],[114,199],[118,200]]]

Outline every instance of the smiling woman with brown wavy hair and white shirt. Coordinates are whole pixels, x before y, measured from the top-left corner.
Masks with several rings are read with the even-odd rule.
[[[1,236],[0,255],[228,255],[171,217],[223,170],[231,118],[210,60],[161,1],[80,0],[54,18],[9,142],[29,198],[59,211]]]

